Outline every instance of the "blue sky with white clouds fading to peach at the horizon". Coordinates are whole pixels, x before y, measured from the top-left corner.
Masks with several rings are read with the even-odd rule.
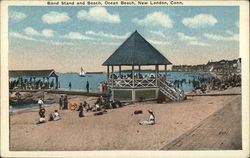
[[[105,71],[137,30],[174,65],[239,57],[237,6],[9,6],[9,69]]]

